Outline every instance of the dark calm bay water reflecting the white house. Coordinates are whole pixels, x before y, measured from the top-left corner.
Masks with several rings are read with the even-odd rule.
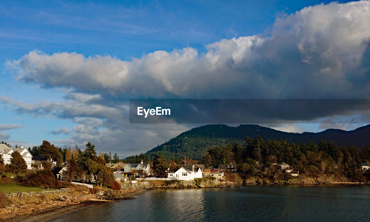
[[[370,186],[361,185],[161,189],[135,197],[55,221],[370,221]]]

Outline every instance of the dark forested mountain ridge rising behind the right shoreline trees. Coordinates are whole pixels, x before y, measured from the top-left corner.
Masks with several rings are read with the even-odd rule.
[[[334,141],[339,147],[348,147],[351,143],[356,147],[370,146],[370,125],[345,131],[341,129],[326,129],[322,132],[292,133],[283,132],[259,125],[239,125],[229,127],[223,124],[204,125],[183,132],[175,138],[170,139],[145,154],[152,158],[155,154],[165,155],[166,158],[177,158],[186,155],[186,158],[200,160],[202,154],[208,151],[211,146],[223,146],[234,141],[243,144],[246,137],[253,138],[260,136],[267,139],[288,140],[300,144],[302,141],[310,141],[319,144],[319,140]]]

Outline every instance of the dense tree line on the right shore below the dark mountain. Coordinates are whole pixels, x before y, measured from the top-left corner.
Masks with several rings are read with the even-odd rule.
[[[211,147],[203,154],[202,163],[208,166],[234,163],[246,174],[257,175],[256,162],[268,176],[281,174],[273,163],[285,162],[310,176],[336,175],[361,181],[361,163],[370,162],[370,149],[357,148],[350,144],[348,148],[338,147],[334,142],[320,139],[319,144],[312,140],[295,144],[287,140],[267,139],[256,136],[245,138],[243,144],[234,142],[222,147]]]

